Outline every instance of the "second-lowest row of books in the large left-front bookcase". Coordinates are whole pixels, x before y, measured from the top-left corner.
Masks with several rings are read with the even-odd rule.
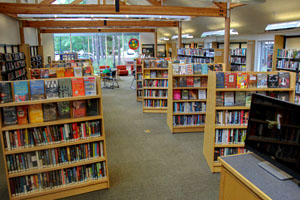
[[[23,172],[103,157],[103,141],[6,156],[9,173]]]

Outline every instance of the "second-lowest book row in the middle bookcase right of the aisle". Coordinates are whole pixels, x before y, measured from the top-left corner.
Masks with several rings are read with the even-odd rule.
[[[173,104],[174,113],[192,113],[192,112],[205,112],[205,102],[180,102]]]

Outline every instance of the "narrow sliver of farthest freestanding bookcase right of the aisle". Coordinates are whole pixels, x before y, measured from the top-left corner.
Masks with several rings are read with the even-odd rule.
[[[143,101],[143,61],[140,58],[136,59],[136,101]]]

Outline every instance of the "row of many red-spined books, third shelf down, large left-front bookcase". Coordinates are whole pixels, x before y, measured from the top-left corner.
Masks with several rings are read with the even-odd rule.
[[[67,143],[102,136],[100,121],[86,121],[29,129],[5,131],[6,150]]]

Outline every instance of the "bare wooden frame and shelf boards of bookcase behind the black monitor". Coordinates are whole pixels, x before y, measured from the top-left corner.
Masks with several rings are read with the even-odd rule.
[[[278,72],[247,72],[248,74],[277,74]],[[221,164],[215,159],[216,148],[243,148],[244,143],[216,143],[216,130],[238,129],[247,130],[247,125],[217,125],[217,111],[249,111],[250,106],[216,106],[217,92],[244,91],[244,92],[288,92],[289,101],[294,102],[296,74],[290,72],[290,88],[216,88],[216,72],[208,72],[208,92],[203,154],[211,172],[220,172]]]

